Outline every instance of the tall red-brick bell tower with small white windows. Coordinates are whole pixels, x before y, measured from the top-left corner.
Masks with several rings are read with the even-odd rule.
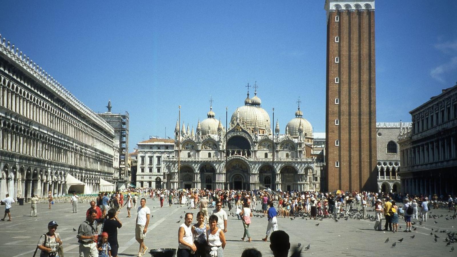
[[[326,0],[325,189],[377,189],[374,0]]]

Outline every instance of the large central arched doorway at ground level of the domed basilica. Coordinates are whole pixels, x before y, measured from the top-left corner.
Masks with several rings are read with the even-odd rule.
[[[241,159],[234,159],[228,162],[226,169],[228,189],[249,190],[249,171],[249,166]]]

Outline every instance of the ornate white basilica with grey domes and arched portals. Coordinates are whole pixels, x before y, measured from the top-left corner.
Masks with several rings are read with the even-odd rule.
[[[252,98],[248,92],[228,128],[214,117],[211,106],[195,131],[184,124],[180,130],[176,122],[175,154],[163,163],[164,187],[320,189],[323,165],[312,155],[313,127],[303,118],[299,105],[282,134],[278,122],[272,131],[270,116],[256,92]]]

